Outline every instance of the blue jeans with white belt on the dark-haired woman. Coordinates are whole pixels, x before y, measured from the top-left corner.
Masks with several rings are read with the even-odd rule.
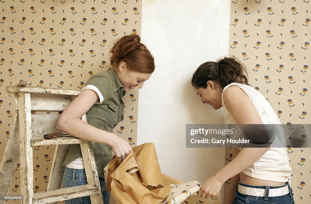
[[[266,188],[266,186],[251,186],[247,184],[240,183],[241,186],[251,187],[251,188]],[[233,204],[294,204],[294,197],[293,197],[293,190],[290,188],[290,184],[286,182],[284,186],[288,187],[289,193],[283,196],[276,196],[276,197],[268,197],[265,199],[265,197],[260,196],[249,196],[242,193],[239,193],[238,190],[236,190],[236,193],[234,195],[235,202]],[[267,191],[272,188],[279,188],[284,186],[268,186]],[[238,187],[236,188],[238,189]],[[269,195],[269,192],[267,192],[267,195]]]

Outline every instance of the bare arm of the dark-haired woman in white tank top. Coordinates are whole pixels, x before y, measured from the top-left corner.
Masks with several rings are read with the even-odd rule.
[[[238,124],[262,124],[254,104],[239,87],[231,86],[226,89],[223,93],[223,98],[226,108]],[[216,196],[226,180],[251,166],[268,149],[270,147],[241,149],[239,154],[228,165],[205,181],[198,192],[198,196],[207,199]]]

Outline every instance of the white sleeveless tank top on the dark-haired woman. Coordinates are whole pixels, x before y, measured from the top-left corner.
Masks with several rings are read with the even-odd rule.
[[[281,124],[271,105],[259,91],[244,84],[231,83],[224,88],[223,92],[230,86],[238,86],[245,92],[257,109],[263,124]],[[238,124],[231,113],[226,109],[222,96],[221,99],[225,113],[225,124]],[[289,165],[289,157],[286,148],[270,148],[256,162],[242,171],[245,175],[253,178],[276,182],[289,181],[290,172],[291,167]]]

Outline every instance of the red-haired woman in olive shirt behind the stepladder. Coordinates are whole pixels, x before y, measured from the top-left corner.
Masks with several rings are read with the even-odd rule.
[[[154,58],[140,37],[131,34],[118,39],[110,50],[111,68],[89,78],[81,94],[58,119],[57,129],[84,140],[93,141],[93,149],[104,204],[109,204],[104,181],[104,167],[114,152],[121,163],[132,151],[128,141],[113,134],[123,120],[123,96],[133,88],[142,88],[155,69]],[[80,118],[86,113],[87,122]],[[79,144],[69,147],[63,163],[62,187],[85,185],[86,173]],[[65,203],[91,203],[90,197],[75,198]]]

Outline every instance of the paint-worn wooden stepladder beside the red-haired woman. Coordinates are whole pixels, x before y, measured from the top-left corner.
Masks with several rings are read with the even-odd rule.
[[[0,164],[0,195],[8,194],[19,159],[23,204],[53,203],[83,196],[90,196],[92,204],[103,203],[91,141],[75,137],[43,138],[44,134],[57,132],[60,113],[80,91],[28,86],[7,86],[6,90],[12,94],[17,114]],[[86,122],[85,115],[82,120]],[[88,184],[59,189],[69,144],[81,145]],[[39,145],[56,145],[56,148],[47,191],[34,193],[32,146]]]

